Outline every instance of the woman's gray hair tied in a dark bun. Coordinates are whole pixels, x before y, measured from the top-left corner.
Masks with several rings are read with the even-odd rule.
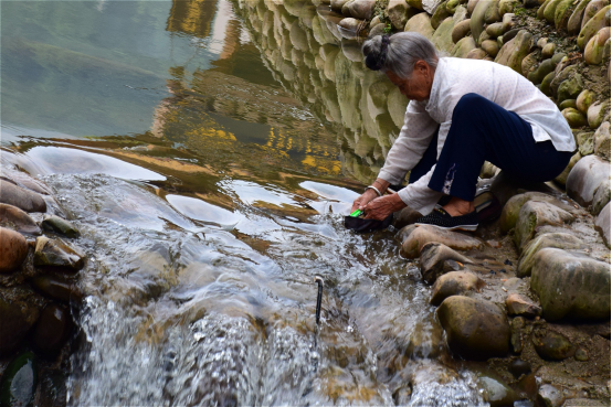
[[[391,71],[403,79],[410,79],[416,61],[424,61],[435,71],[441,56],[432,42],[416,32],[376,35],[363,43],[361,52],[370,69]]]

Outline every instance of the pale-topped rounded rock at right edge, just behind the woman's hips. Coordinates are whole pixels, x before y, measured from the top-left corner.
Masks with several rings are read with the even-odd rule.
[[[592,204],[598,188],[610,180],[610,163],[595,156],[582,158],[568,175],[568,196],[582,206]]]

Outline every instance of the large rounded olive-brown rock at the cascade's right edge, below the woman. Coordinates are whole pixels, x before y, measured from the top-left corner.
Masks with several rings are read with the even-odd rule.
[[[453,296],[436,311],[449,347],[467,358],[485,360],[509,352],[510,326],[492,302]]]

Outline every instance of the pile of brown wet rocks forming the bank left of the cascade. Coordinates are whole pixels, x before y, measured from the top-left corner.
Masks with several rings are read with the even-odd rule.
[[[71,342],[83,294],[78,229],[54,215],[51,190],[2,168],[0,178],[0,405],[66,405]]]

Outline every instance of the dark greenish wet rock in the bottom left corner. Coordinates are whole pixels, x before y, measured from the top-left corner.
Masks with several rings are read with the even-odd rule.
[[[2,374],[0,405],[2,407],[31,407],[36,385],[36,358],[32,352],[24,352],[17,356]]]

